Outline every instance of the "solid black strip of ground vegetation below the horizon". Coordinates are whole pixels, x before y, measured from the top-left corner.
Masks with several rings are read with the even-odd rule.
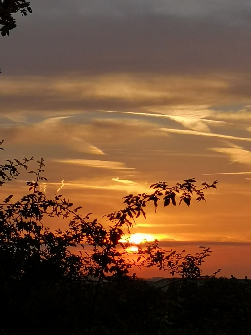
[[[1,287],[1,334],[251,334],[251,283],[25,280]]]

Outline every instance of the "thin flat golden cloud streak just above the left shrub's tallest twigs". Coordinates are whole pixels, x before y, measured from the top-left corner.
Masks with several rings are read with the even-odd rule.
[[[107,160],[95,160],[95,159],[54,159],[55,162],[64,164],[73,164],[89,167],[99,167],[100,169],[111,169],[111,170],[129,170],[134,169],[133,167],[126,167],[124,163],[107,161]]]

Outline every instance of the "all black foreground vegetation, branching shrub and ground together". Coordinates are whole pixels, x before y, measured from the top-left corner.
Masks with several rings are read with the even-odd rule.
[[[0,186],[27,170],[30,160],[0,165]],[[37,163],[38,169],[28,172],[35,176],[27,182],[29,193],[20,200],[8,195],[0,203],[0,334],[251,334],[251,283],[216,278],[220,270],[202,278],[200,266],[210,248],[185,255],[164,250],[155,240],[138,246],[132,259],[130,243],[120,242],[124,230],[145,217],[148,202],[155,211],[160,203],[175,206],[177,197],[189,206],[193,196],[205,200],[204,190],[216,188],[216,181],[201,188],[194,179],[173,187],[153,184],[150,194],[124,197],[123,208],[105,215],[102,225],[91,213],[79,214],[81,207],[63,195],[48,199],[39,188],[46,180],[44,161]],[[67,230],[45,226],[46,217],[56,216],[68,220]],[[71,252],[76,247],[83,251]],[[173,277],[162,281],[162,288],[129,275],[154,266]]]

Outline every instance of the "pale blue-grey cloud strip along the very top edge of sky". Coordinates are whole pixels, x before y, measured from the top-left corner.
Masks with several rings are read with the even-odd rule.
[[[226,15],[251,10],[250,1],[239,0],[33,0],[33,11],[40,15],[50,16],[69,13],[83,15],[122,16],[127,14],[172,14],[177,16]]]

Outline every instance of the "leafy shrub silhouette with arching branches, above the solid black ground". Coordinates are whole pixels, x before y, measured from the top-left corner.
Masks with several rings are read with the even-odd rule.
[[[2,143],[2,142],[1,142]],[[0,165],[0,185],[16,179],[18,168],[27,170],[27,162],[32,160],[24,158],[23,162],[17,159],[7,160]],[[58,280],[62,276],[69,278],[82,277],[86,280],[96,277],[99,281],[109,277],[129,276],[129,270],[134,267],[157,266],[160,270],[169,271],[172,276],[180,274],[183,277],[199,277],[201,261],[208,256],[209,249],[195,256],[184,256],[184,250],[177,253],[172,250],[163,250],[158,241],[148,243],[146,247],[138,246],[134,254],[138,259],[128,258],[130,243],[122,243],[124,228],[130,233],[135,220],[146,216],[144,207],[152,202],[155,212],[159,202],[164,206],[172,203],[176,205],[175,198],[179,194],[179,204],[184,202],[187,206],[193,195],[196,200],[205,200],[203,191],[216,188],[217,181],[208,185],[202,183],[197,188],[194,179],[184,180],[169,187],[165,182],[151,185],[151,194],[130,194],[124,197],[124,207],[119,211],[105,215],[110,223],[106,229],[97,218],[90,220],[91,213],[83,216],[79,214],[82,207],[73,207],[73,203],[63,195],[56,195],[54,199],[47,199],[39,190],[39,182],[46,180],[44,173],[44,160],[37,161],[37,171],[29,171],[35,175],[34,182],[27,182],[29,194],[19,201],[11,202],[13,195],[9,195],[0,203],[0,269],[2,280],[21,277],[36,276],[50,277]],[[62,231],[60,228],[53,233],[43,222],[45,217],[62,217],[69,220],[69,228]],[[85,245],[92,248],[91,253],[84,250]],[[82,247],[80,254],[72,253],[74,247]],[[140,262],[141,261],[141,262]],[[135,274],[133,275],[135,276]]]

